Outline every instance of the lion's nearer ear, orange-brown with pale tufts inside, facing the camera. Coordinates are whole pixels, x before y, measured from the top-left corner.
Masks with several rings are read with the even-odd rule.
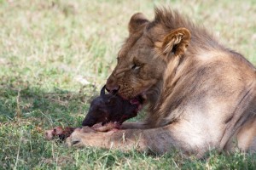
[[[154,45],[168,61],[172,55],[183,55],[189,46],[190,39],[191,34],[187,28],[177,28],[164,37],[163,41],[155,42]]]

